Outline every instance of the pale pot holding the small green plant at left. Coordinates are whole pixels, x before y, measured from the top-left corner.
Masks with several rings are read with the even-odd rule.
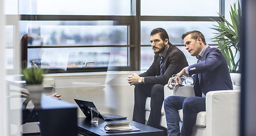
[[[34,104],[35,108],[41,107],[41,97],[43,92],[42,84],[31,84],[27,85],[27,90],[29,91],[29,96]]]

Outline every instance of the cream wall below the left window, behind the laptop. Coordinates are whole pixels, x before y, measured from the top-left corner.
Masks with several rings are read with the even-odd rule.
[[[74,103],[74,98],[93,101],[100,113],[112,113],[132,120],[134,104],[134,86],[129,86],[127,76],[135,71],[125,73],[107,73],[94,75],[58,75],[46,76],[54,79],[55,92],[62,99]],[[47,95],[53,92],[46,93]],[[78,117],[84,117],[78,110]]]

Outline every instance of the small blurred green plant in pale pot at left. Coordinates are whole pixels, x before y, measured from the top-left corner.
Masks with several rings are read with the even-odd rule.
[[[30,99],[36,108],[40,107],[41,96],[43,92],[43,69],[36,69],[31,67],[29,69],[22,70],[24,79],[26,80],[26,87],[30,94]]]

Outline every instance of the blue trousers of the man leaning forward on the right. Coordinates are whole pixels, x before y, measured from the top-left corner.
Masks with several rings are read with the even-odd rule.
[[[183,111],[183,125],[180,133],[180,116],[178,110]],[[164,100],[164,110],[167,122],[168,136],[190,136],[196,124],[197,113],[205,111],[205,97],[169,96]]]

